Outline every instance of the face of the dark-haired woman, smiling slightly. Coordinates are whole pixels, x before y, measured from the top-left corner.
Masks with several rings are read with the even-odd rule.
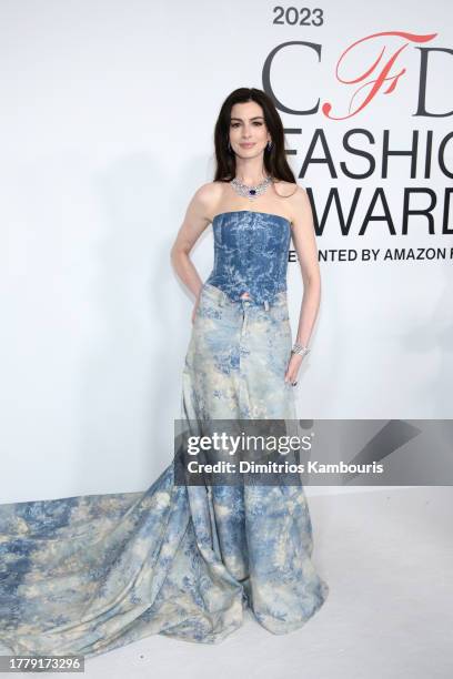
[[[255,101],[236,103],[231,109],[230,144],[236,155],[254,158],[264,153],[271,141],[263,110]]]

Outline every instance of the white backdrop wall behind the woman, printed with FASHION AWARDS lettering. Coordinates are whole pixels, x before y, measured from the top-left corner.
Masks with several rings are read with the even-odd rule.
[[[420,4],[420,12],[416,11]],[[263,88],[270,52],[291,41],[321,45],[321,58],[291,44],[274,58],[271,85],[296,176],[322,130],[336,176],[309,163],[299,178],[322,215],[336,188],[348,214],[360,188],[349,235],[334,204],[318,236],[320,251],[380,249],[376,262],[322,262],[322,303],[312,353],[298,386],[304,418],[450,418],[452,402],[451,253],[445,261],[384,261],[394,247],[453,246],[442,234],[443,195],[452,180],[437,163],[452,116],[415,115],[421,48],[453,48],[446,0],[359,0],[322,3],[323,23],[273,23],[274,3],[41,0],[0,4],[1,31],[1,459],[0,501],[125,493],[148,487],[171,462],[180,415],[181,371],[192,300],[171,268],[169,252],[194,191],[212,180],[213,126],[238,87]],[[289,6],[288,6],[289,7]],[[286,8],[286,6],[284,6]],[[422,11],[423,10],[423,11]],[[288,13],[292,21],[293,14]],[[339,67],[363,74],[385,45],[376,70],[344,84],[335,69],[355,41],[381,31],[437,33],[426,42],[384,37],[358,45]],[[395,50],[391,91],[345,120],[365,99]],[[453,55],[429,57],[426,109],[453,108]],[[445,87],[449,84],[449,87]],[[349,153],[344,135],[375,161]],[[409,150],[420,132],[417,171],[391,156],[383,178],[383,131],[392,150]],[[431,176],[424,176],[426,131],[433,131]],[[369,139],[368,135],[372,135]],[[452,143],[444,152],[453,171]],[[313,158],[325,156],[321,141]],[[385,192],[396,235],[371,222],[359,235],[375,189]],[[431,189],[435,233],[411,216],[402,234],[405,188]],[[427,195],[413,196],[423,207]],[[450,230],[453,229],[453,205]],[[382,215],[378,201],[373,214]],[[193,261],[203,280],[212,266],[212,232]],[[302,282],[289,265],[295,332]]]

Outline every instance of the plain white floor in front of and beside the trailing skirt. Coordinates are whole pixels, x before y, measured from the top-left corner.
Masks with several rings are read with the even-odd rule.
[[[330,596],[302,629],[274,636],[248,617],[218,646],[149,637],[88,659],[84,676],[451,679],[453,487],[308,496]]]

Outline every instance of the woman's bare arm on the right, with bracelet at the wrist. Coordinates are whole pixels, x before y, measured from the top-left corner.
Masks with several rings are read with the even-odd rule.
[[[292,240],[298,253],[303,280],[303,296],[295,342],[308,346],[320,307],[321,275],[314,236],[313,213],[306,191],[302,186],[298,188],[292,199],[292,209],[295,215],[293,219]],[[292,354],[285,381],[295,381],[301,363],[302,356],[300,354]]]

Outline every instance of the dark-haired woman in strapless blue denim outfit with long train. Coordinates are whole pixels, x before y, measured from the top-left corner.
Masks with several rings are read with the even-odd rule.
[[[291,185],[282,124],[263,92],[230,94],[215,150],[215,181],[197,191],[171,252],[197,296],[182,417],[295,418],[319,268],[309,202]],[[189,252],[211,222],[214,267],[202,284]],[[291,235],[304,280],[293,347]],[[311,553],[300,485],[179,485],[174,463],[143,494],[3,505],[0,651],[90,657],[152,634],[214,643],[246,607],[285,634],[328,596]]]

